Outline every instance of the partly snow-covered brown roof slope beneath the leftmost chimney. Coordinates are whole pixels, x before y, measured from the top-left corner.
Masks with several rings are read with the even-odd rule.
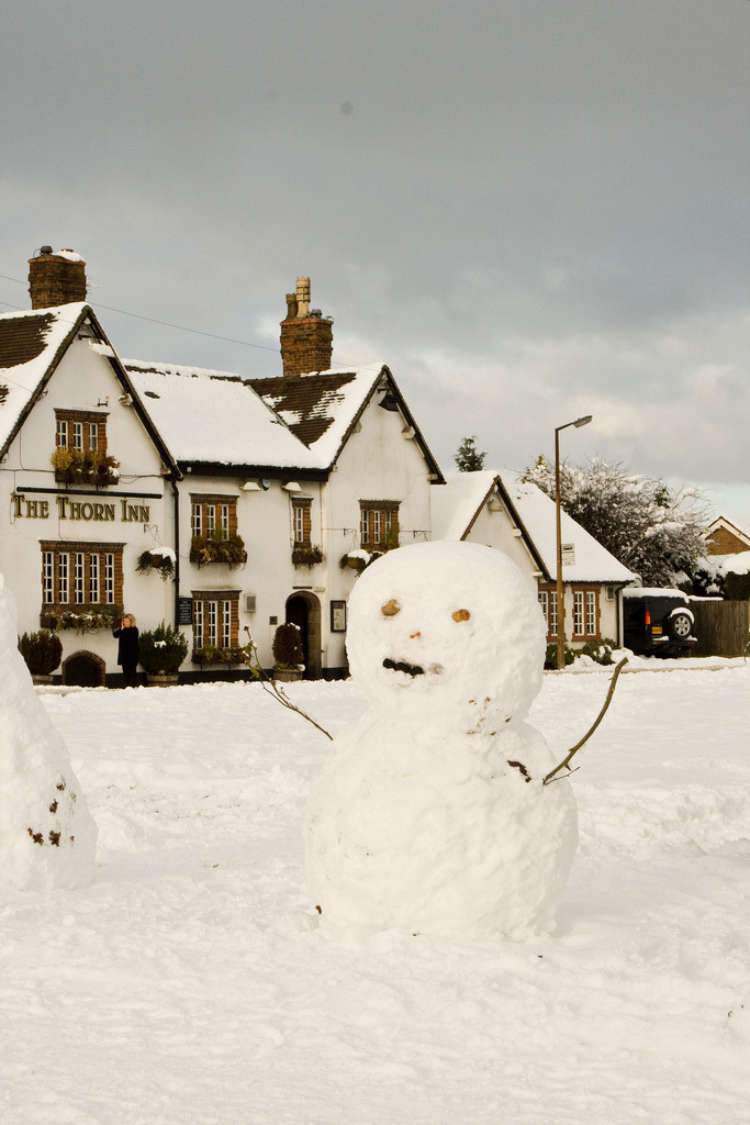
[[[0,314],[0,449],[29,406],[87,305]]]

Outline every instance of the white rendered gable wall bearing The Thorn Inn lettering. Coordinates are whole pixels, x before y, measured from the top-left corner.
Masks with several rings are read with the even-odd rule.
[[[40,540],[124,543],[125,609],[135,614],[142,629],[156,624],[162,618],[171,619],[171,583],[163,583],[156,574],[143,577],[135,573],[142,551],[172,541],[170,486],[164,482],[163,466],[153,442],[133,407],[120,404],[121,395],[123,387],[109,361],[92,351],[85,340],[74,340],[47,384],[46,395],[30,412],[7,460],[0,466],[0,570],[16,596],[19,632],[39,629]],[[55,450],[56,408],[107,415],[107,451],[120,461],[117,485],[96,489],[93,486],[66,488],[55,483],[49,459]],[[25,498],[13,501],[16,489],[20,493],[33,488],[54,492],[28,490]],[[139,493],[156,496],[135,498],[134,494]],[[125,511],[124,501],[129,501]],[[76,513],[72,502],[88,506]],[[130,507],[138,510],[136,518],[128,518]],[[109,632],[63,630],[60,638],[63,660],[85,650],[100,656],[108,673],[119,670],[117,642]]]

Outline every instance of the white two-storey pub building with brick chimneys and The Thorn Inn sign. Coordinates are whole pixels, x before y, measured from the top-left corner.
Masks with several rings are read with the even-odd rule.
[[[183,680],[241,674],[249,634],[270,668],[283,621],[300,629],[308,676],[345,674],[359,572],[432,538],[431,492],[444,486],[390,370],[331,370],[333,322],[305,278],[287,296],[283,374],[253,380],[121,360],[72,251],[43,246],[29,294],[30,310],[0,315],[0,572],[19,631],[58,632],[69,684],[118,682],[124,612],[186,633]],[[525,537],[518,561],[549,582],[513,506],[487,505],[508,522],[489,544]],[[618,637],[609,594],[631,576],[599,550],[591,630]]]

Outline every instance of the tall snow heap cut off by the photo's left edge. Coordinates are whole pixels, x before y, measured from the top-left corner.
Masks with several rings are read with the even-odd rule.
[[[16,603],[2,575],[0,684],[0,885],[84,885],[94,873],[97,827],[18,651]]]

